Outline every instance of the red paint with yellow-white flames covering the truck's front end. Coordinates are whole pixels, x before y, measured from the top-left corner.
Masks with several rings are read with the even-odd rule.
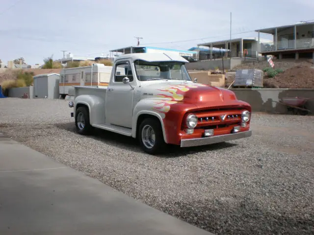
[[[182,139],[202,137],[203,128],[196,127],[193,134],[185,133],[185,118],[190,113],[198,115],[200,112],[206,112],[211,114],[213,111],[210,110],[217,109],[218,111],[214,112],[216,115],[225,115],[230,111],[238,115],[241,115],[244,110],[251,112],[251,106],[246,102],[237,100],[235,94],[228,89],[191,83],[184,85],[166,84],[157,90],[160,92],[151,97],[155,99],[152,109],[163,118],[167,142],[172,144],[180,144]],[[249,130],[249,123],[250,121],[246,127],[241,127],[240,131]],[[238,125],[233,120],[220,121],[219,124],[227,124],[228,126],[215,129],[214,135],[230,134],[231,129]],[[200,126],[204,126],[204,124]]]

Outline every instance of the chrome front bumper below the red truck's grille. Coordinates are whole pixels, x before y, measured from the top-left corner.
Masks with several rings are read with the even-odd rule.
[[[187,140],[181,140],[181,147],[192,147],[192,146],[200,146],[200,145],[219,143],[219,142],[225,142],[225,141],[234,141],[237,139],[242,139],[242,138],[246,138],[250,136],[252,136],[252,131],[248,130],[244,132],[237,132],[234,134],[203,137],[203,138],[197,138],[197,139],[187,139]]]

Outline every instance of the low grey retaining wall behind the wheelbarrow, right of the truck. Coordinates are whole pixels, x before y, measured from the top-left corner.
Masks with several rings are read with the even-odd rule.
[[[306,103],[306,108],[314,115],[314,89],[231,89],[239,100],[248,102],[252,111],[269,113],[287,113],[287,106],[272,102],[283,97],[313,98]]]

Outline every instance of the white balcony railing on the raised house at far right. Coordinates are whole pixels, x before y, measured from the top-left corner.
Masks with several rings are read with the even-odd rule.
[[[261,51],[290,50],[298,48],[314,48],[314,38],[302,38],[297,39],[296,41],[278,41],[277,48],[275,47],[274,42],[260,44]]]

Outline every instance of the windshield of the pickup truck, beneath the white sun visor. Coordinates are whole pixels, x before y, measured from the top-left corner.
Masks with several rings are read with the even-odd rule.
[[[147,62],[143,60],[134,61],[135,72],[138,80],[188,80],[191,78],[181,62]]]

